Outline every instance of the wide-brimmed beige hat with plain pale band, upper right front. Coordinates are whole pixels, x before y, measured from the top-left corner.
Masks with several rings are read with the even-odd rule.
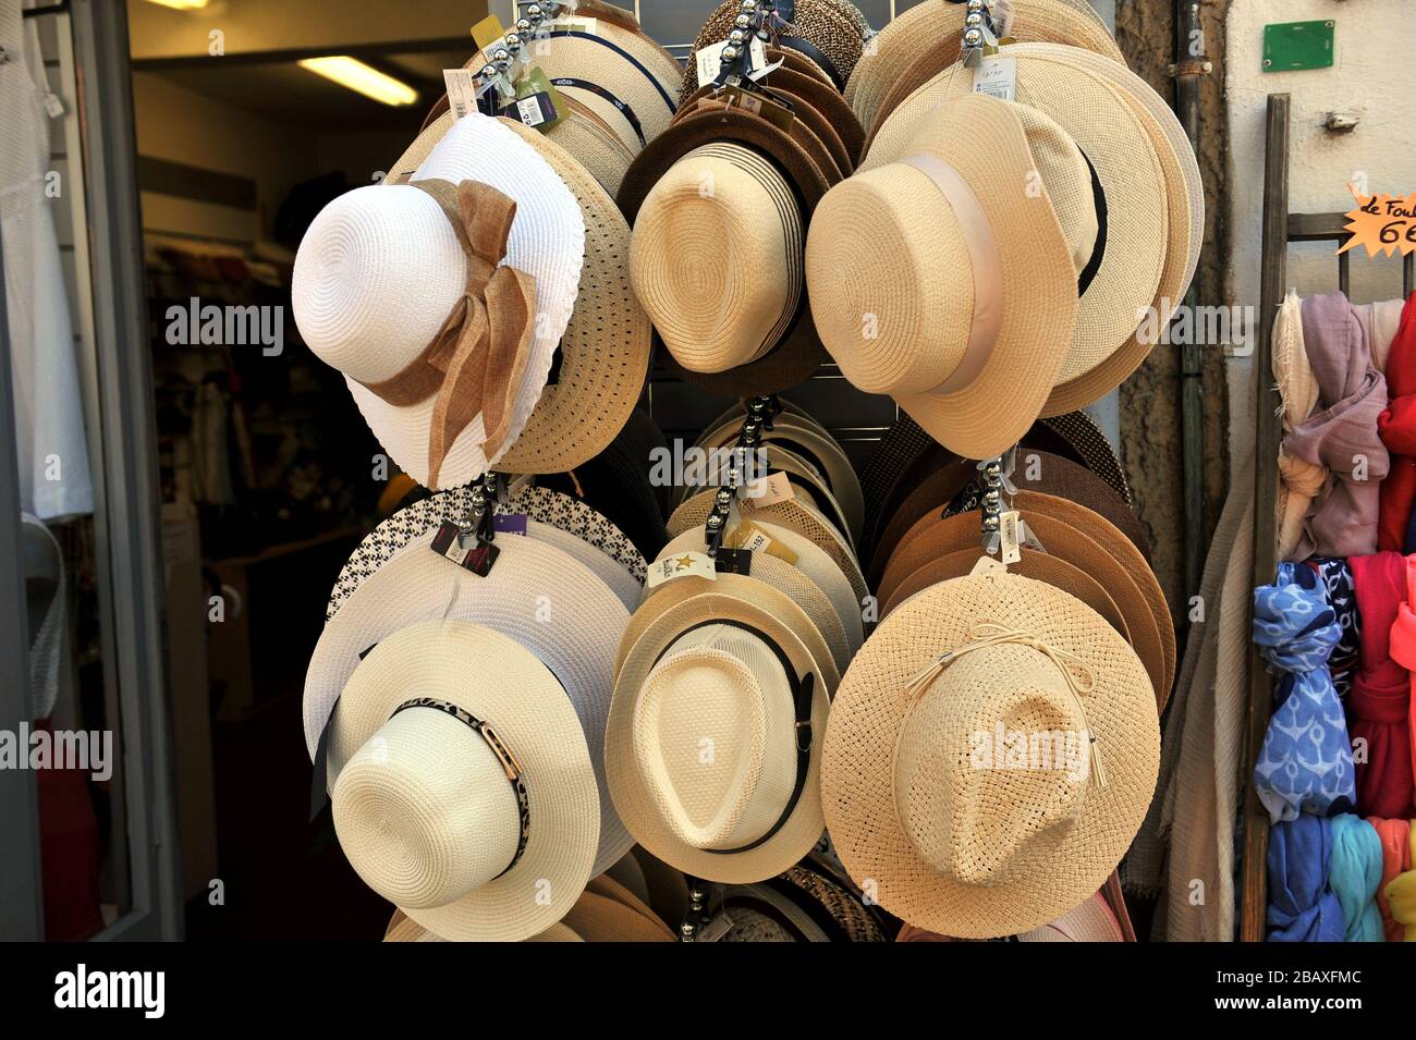
[[[987,458],[1032,426],[1073,338],[1097,236],[1087,161],[1044,113],[986,95],[912,130],[817,208],[811,314],[855,386]]]

